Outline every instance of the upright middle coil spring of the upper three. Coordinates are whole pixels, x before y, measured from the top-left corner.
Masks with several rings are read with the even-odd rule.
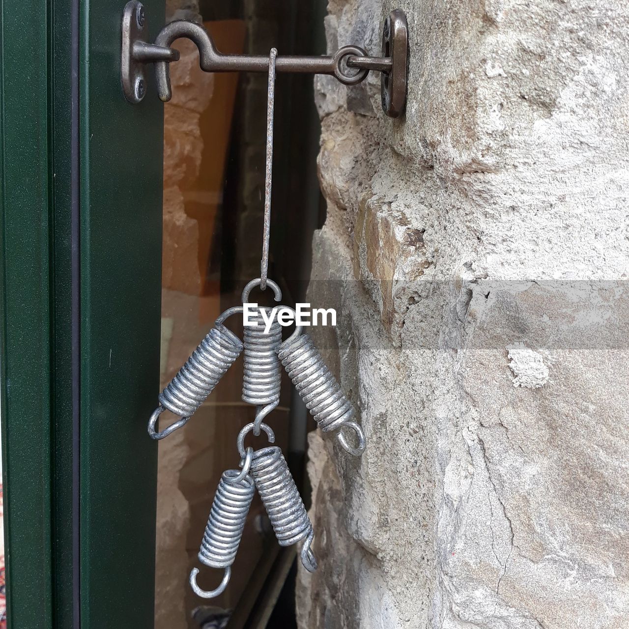
[[[248,404],[279,404],[279,392],[282,384],[282,365],[277,357],[277,348],[282,342],[282,326],[274,317],[269,333],[265,333],[262,309],[250,316],[252,323],[243,331],[245,346],[245,367],[242,381],[242,400]],[[270,313],[270,308],[264,308]],[[272,409],[270,409],[272,410]],[[269,410],[269,412],[270,412]]]

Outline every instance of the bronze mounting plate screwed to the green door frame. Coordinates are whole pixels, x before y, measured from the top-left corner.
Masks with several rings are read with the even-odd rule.
[[[120,77],[125,97],[130,103],[140,103],[147,93],[147,64],[138,61],[133,55],[135,42],[146,42],[147,18],[142,3],[131,0],[125,6],[122,16],[122,49],[120,56]]]

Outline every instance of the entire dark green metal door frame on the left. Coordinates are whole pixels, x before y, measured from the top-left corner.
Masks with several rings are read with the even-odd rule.
[[[162,105],[123,1],[3,3],[0,410],[8,625],[153,626]],[[152,35],[163,0],[149,0]]]

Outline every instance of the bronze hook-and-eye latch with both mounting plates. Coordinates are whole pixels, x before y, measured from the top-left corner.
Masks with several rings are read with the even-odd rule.
[[[125,6],[122,19],[121,79],[123,92],[130,103],[139,103],[146,94],[146,64],[155,63],[157,91],[162,101],[169,101],[169,64],[179,59],[170,48],[181,38],[191,39],[199,48],[199,65],[205,72],[268,72],[269,57],[223,55],[214,46],[203,26],[185,20],[164,26],[155,39],[147,43],[145,10],[138,0]],[[401,9],[391,11],[382,32],[382,57],[369,57],[358,46],[343,46],[331,57],[277,57],[277,72],[329,74],[345,85],[364,81],[369,71],[382,73],[382,109],[387,116],[398,118],[406,104],[408,76],[408,26]]]

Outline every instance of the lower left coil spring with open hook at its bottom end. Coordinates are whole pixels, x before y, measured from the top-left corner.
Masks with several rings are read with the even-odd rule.
[[[202,590],[196,584],[198,568],[190,573],[190,584],[198,596],[213,598],[225,591],[233,564],[242,538],[243,528],[247,521],[247,514],[255,486],[251,476],[242,477],[240,470],[226,470],[216,489],[212,509],[209,512],[208,524],[203,535],[203,542],[199,548],[199,561],[212,568],[225,568],[225,576],[220,586],[211,592]]]

